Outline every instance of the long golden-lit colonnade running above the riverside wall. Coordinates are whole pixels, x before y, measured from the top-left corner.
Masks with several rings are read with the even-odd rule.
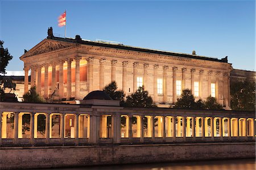
[[[7,112],[0,112],[2,121],[0,122],[0,144],[7,139]],[[13,121],[13,142],[19,143],[23,138],[22,119],[24,114],[30,114],[30,144],[35,144],[38,139],[38,115],[45,116],[45,135],[43,137],[46,144],[51,144],[52,137],[52,116],[59,115],[60,136],[59,143],[64,144],[66,138],[73,138],[75,144],[79,144],[80,139],[88,139],[88,143],[101,143],[103,138],[112,139],[113,143],[126,142],[133,143],[135,138],[140,143],[150,139],[151,142],[179,142],[192,140],[220,141],[228,139],[236,140],[242,138],[255,140],[255,118],[250,117],[212,117],[207,115],[147,115],[147,114],[123,114],[123,113],[100,113],[76,114],[76,113],[24,113],[14,112]],[[65,128],[67,116],[73,116],[73,135],[66,136]],[[111,122],[108,122],[111,117]],[[125,119],[122,122],[121,119]],[[70,123],[70,122],[69,122]],[[135,124],[134,124],[135,123]],[[71,123],[72,124],[72,123]],[[110,126],[109,126],[110,125]],[[122,125],[122,127],[121,127]],[[110,127],[110,128],[109,128]],[[110,129],[110,131],[108,131]],[[42,138],[42,137],[41,137]]]

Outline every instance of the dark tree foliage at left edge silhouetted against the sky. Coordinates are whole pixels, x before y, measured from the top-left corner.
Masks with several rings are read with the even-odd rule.
[[[0,40],[0,73],[5,74],[5,68],[13,56],[8,52],[8,48],[3,48],[3,43]]]

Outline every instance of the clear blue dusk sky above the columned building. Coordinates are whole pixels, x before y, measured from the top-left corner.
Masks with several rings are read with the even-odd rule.
[[[14,56],[7,71],[22,71],[19,57],[47,37],[112,40],[143,48],[228,56],[233,68],[255,70],[255,1],[3,1],[0,39]]]

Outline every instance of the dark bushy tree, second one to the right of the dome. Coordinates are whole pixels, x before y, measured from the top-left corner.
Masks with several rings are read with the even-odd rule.
[[[148,96],[148,92],[143,87],[139,87],[135,93],[126,97],[126,107],[156,107],[153,100]]]

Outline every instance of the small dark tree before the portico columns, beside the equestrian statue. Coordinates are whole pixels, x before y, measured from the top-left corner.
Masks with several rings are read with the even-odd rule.
[[[26,103],[43,103],[44,99],[36,93],[36,86],[32,86],[30,90],[23,95],[23,102]]]

